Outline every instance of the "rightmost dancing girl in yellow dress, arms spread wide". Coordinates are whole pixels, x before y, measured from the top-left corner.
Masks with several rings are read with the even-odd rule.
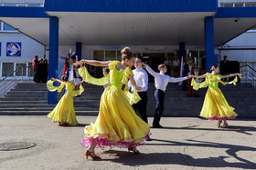
[[[203,108],[201,110],[200,116],[205,117],[210,120],[218,120],[218,127],[220,127],[221,122],[223,121],[223,128],[228,127],[228,123],[226,119],[232,119],[237,116],[237,114],[234,112],[234,108],[231,107],[225,96],[221,93],[218,85],[221,83],[222,85],[227,84],[234,84],[236,85],[237,82],[237,76],[240,74],[230,74],[230,75],[217,75],[219,74],[219,66],[213,65],[210,69],[211,73],[207,73],[205,75],[196,76],[193,75],[193,77],[196,78],[206,78],[206,80],[202,83],[197,83],[195,79],[192,79],[191,85],[193,85],[193,88],[195,90],[198,90],[198,88],[207,87],[208,91],[205,96],[205,101]],[[223,82],[221,81],[222,78],[228,78],[236,76],[235,79],[231,82]]]

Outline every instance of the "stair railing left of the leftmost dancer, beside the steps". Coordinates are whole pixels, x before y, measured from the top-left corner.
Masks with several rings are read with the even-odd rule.
[[[25,72],[24,69],[26,69]],[[31,69],[32,68],[29,66],[21,65],[16,70],[11,71],[9,74],[5,75],[5,77],[0,80],[0,98],[4,97],[4,95],[13,89],[17,83],[23,83],[24,77],[28,77],[28,82],[30,83]],[[18,71],[21,71],[21,75],[16,74]]]

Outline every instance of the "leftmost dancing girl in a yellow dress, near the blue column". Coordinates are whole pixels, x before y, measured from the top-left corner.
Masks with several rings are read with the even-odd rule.
[[[73,97],[80,95],[83,92],[83,87],[80,85],[82,82],[73,84],[68,81],[67,76],[61,76],[61,80],[51,78],[48,81],[47,86],[50,92],[58,90],[60,93],[62,88],[66,86],[66,94],[61,97],[59,103],[55,106],[52,112],[48,114],[48,118],[52,119],[54,122],[59,122],[59,125],[78,125],[78,121],[75,114]],[[54,86],[53,83],[58,81],[59,86]],[[74,91],[75,86],[79,86],[79,90]]]

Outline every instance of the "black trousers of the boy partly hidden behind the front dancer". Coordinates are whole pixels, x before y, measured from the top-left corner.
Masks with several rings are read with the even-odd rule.
[[[133,104],[133,109],[137,115],[139,115],[145,123],[147,123],[146,105],[147,105],[147,92],[138,92],[138,95],[142,98],[137,104]]]

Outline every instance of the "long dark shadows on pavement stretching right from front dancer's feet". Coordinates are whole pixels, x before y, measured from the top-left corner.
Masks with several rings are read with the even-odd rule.
[[[235,157],[237,160],[236,163],[229,163],[225,161],[225,158],[229,156],[219,156],[219,157],[210,157],[207,158],[194,158],[190,155],[184,155],[180,153],[149,153],[149,154],[140,154],[134,155],[132,152],[128,153],[125,151],[115,151],[109,150],[103,152],[103,154],[109,154],[114,156],[113,159],[104,159],[104,161],[111,161],[123,165],[190,165],[197,167],[240,167],[243,169],[256,169],[256,164],[248,160],[240,158],[236,155],[236,152],[239,151],[256,151],[256,148],[242,146],[242,145],[227,145],[219,143],[209,143],[204,141],[194,141],[196,144],[190,143],[180,143],[174,141],[165,141],[159,139],[153,139],[154,141],[166,142],[169,144],[147,144],[147,145],[184,145],[184,146],[197,146],[197,147],[219,147],[227,148],[226,153],[230,156]]]

